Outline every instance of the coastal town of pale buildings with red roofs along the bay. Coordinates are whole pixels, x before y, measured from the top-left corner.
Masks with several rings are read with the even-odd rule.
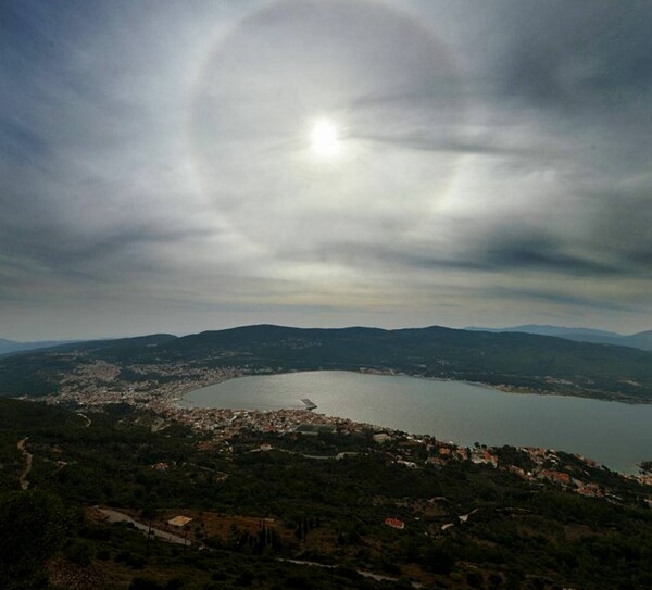
[[[343,417],[326,416],[314,409],[260,411],[195,407],[180,403],[183,397],[190,391],[243,375],[271,374],[275,372],[274,368],[210,369],[167,364],[131,365],[129,371],[139,380],[124,379],[120,367],[105,361],[78,365],[62,380],[61,391],[42,398],[42,401],[55,405],[72,405],[79,412],[101,410],[108,404],[117,403],[137,406],[155,416],[152,429],[162,429],[172,423],[181,424],[203,435],[211,448],[226,451],[229,449],[229,441],[242,432],[273,434],[279,437],[319,432],[368,436],[374,443],[373,452],[384,452],[405,468],[441,468],[450,462],[468,461],[510,472],[532,484],[547,481],[569,492],[618,502],[617,495],[612,494],[609,489],[589,481],[591,478],[588,470],[604,467],[580,455],[522,447],[515,450],[519,456],[518,463],[526,466],[522,467],[507,461],[504,454],[501,457],[497,448],[479,443],[466,448],[437,440],[432,436],[415,436]],[[572,457],[570,463],[567,457]],[[652,486],[652,475],[647,473],[623,477]],[[652,506],[652,492],[647,503]]]

